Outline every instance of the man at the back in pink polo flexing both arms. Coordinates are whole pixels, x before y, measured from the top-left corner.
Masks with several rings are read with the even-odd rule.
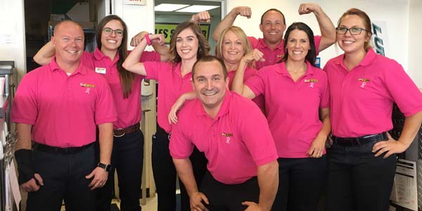
[[[323,51],[335,42],[335,29],[330,18],[324,13],[318,4],[300,4],[299,14],[314,13],[316,20],[319,23],[321,36],[315,36],[316,53]],[[221,32],[227,27],[233,25],[234,20],[238,15],[250,18],[252,11],[248,6],[238,6],[233,8],[227,14],[222,22],[217,25],[212,34],[212,37],[217,41]],[[284,56],[283,49],[283,33],[286,30],[286,18],[283,13],[276,8],[271,8],[265,11],[261,16],[260,30],[264,38],[248,37],[252,49],[258,49],[264,53],[264,61],[257,61],[256,68],[261,68],[274,65]]]

